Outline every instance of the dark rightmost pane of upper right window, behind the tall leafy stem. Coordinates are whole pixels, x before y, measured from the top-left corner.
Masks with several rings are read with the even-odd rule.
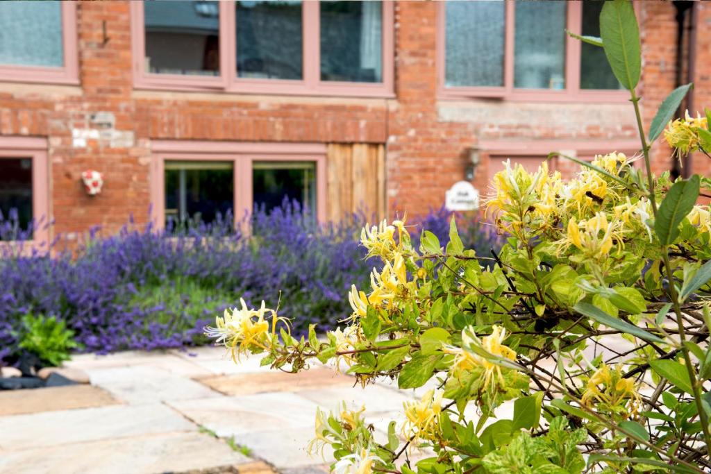
[[[600,11],[604,1],[584,1],[582,4],[582,34],[600,36]],[[605,52],[588,43],[580,43],[580,88],[621,89],[622,85],[612,74]]]

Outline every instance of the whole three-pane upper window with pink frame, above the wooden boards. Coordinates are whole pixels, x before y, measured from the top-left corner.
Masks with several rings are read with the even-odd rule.
[[[132,2],[134,83],[390,97],[392,1]]]

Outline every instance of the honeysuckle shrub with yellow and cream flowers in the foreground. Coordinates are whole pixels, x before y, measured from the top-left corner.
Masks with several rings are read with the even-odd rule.
[[[711,210],[696,204],[711,181],[654,177],[648,156],[665,126],[675,154],[711,151],[710,112],[670,122],[683,86],[646,133],[633,6],[607,1],[600,26],[602,39],[582,40],[630,92],[643,166],[609,151],[564,179],[507,162],[488,206],[508,239],[491,254],[468,248],[454,220],[447,244],[427,231],[413,244],[404,220],[366,226],[360,244],[382,264],[351,287],[351,315],[325,339],[314,325],[294,337],[264,303],[207,328],[237,362],[262,354],[299,372],[319,360],[363,386],[424,387],[384,436],[367,407],[319,409],[309,449],[333,453],[337,473],[711,470]],[[513,416],[498,415],[506,403]]]

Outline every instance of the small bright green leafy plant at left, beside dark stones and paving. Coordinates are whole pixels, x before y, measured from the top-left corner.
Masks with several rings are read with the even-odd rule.
[[[74,340],[73,330],[54,316],[27,314],[22,322],[24,330],[20,347],[33,352],[46,364],[61,365],[65,360],[70,360],[71,351],[79,347]]]

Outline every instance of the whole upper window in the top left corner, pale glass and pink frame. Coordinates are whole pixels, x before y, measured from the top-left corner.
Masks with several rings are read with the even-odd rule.
[[[70,1],[0,1],[0,80],[76,84],[75,15]]]

